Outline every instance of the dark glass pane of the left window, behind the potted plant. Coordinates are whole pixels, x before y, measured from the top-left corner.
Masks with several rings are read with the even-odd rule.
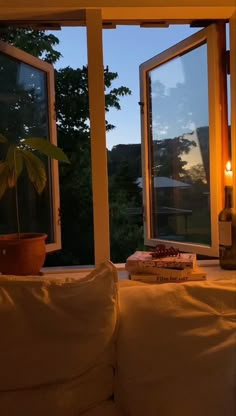
[[[49,139],[46,73],[0,53],[0,133],[9,142],[27,137]],[[6,149],[0,146],[0,159]],[[40,156],[40,155],[38,155]],[[42,158],[42,156],[40,156]],[[51,206],[50,164],[44,159],[47,186],[38,195],[24,170],[18,181],[21,232],[45,232],[54,240]],[[15,188],[0,200],[0,233],[17,231]]]

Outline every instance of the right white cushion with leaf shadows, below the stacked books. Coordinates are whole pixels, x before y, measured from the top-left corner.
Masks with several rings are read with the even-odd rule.
[[[235,416],[235,287],[120,288],[115,400],[127,416]]]

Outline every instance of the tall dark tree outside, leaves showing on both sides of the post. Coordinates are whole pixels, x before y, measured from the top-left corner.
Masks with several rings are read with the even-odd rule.
[[[4,41],[55,63],[60,53],[54,35],[32,29],[13,29],[1,34]],[[118,74],[104,71],[105,110],[120,109],[127,87],[112,88]],[[48,255],[47,265],[93,264],[93,211],[87,67],[55,71],[58,144],[71,164],[60,166],[61,226],[63,250]],[[106,122],[106,129],[114,126]],[[117,201],[119,205],[119,202]]]

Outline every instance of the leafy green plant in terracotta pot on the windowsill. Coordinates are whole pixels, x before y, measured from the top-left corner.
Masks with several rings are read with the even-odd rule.
[[[39,153],[69,163],[65,153],[44,138],[26,138],[10,143],[0,134],[4,158],[0,160],[0,199],[15,188],[17,233],[0,236],[0,272],[3,274],[36,275],[45,261],[46,234],[22,233],[19,214],[18,179],[23,171],[41,194],[47,182],[44,162]]]

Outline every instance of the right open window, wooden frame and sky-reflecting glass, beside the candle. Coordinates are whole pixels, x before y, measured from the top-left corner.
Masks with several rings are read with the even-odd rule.
[[[212,24],[140,66],[146,245],[218,255],[223,49]]]

